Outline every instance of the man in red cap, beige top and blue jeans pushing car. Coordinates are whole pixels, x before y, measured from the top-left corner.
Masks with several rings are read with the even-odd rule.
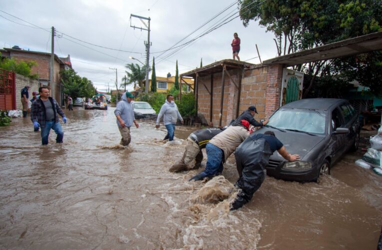
[[[215,135],[206,145],[206,169],[192,177],[190,181],[221,174],[223,163],[235,151],[236,147],[249,136],[248,128],[249,122],[247,120],[234,121],[223,132]]]

